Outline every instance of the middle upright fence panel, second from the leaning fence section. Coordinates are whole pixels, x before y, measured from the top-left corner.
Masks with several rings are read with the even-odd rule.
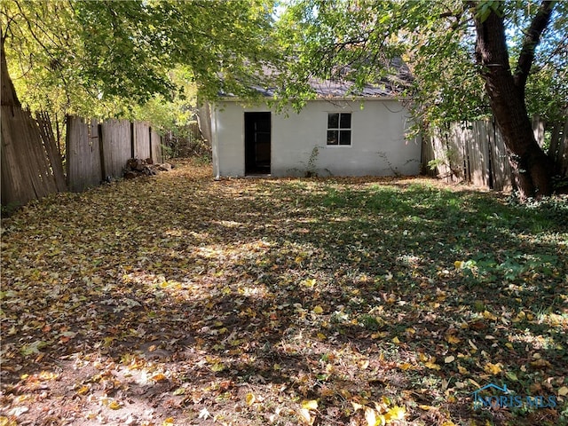
[[[100,128],[104,177],[122,177],[126,162],[132,157],[130,122],[107,120]]]

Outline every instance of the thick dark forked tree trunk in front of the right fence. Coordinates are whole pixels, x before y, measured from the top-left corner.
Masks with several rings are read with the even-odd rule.
[[[533,62],[534,48],[539,42],[541,32],[548,25],[549,13],[553,7],[549,5],[548,9],[544,8],[544,4],[547,3],[543,2],[541,6],[544,14],[537,15],[537,18],[544,18],[544,21],[536,22],[542,28],[537,28],[538,34],[533,35],[536,37],[529,39],[527,36],[525,39],[515,75],[512,74],[509,66],[509,51],[502,14],[493,11],[485,20],[479,15],[475,17],[477,63],[482,67],[481,74],[485,78],[485,89],[489,95],[495,120],[505,145],[512,154],[511,163],[518,190],[523,198],[549,195],[553,190],[553,163],[534,138],[525,105],[525,83]],[[532,29],[533,27],[534,25],[531,26]]]

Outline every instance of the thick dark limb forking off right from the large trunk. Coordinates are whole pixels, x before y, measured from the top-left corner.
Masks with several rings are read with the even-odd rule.
[[[534,60],[534,51],[540,42],[540,36],[548,27],[550,15],[554,10],[556,1],[544,0],[539,7],[539,11],[533,18],[531,26],[526,32],[525,39],[523,40],[523,47],[521,54],[518,57],[517,69],[515,70],[515,85],[521,90],[525,91],[526,79],[531,71],[531,66]]]

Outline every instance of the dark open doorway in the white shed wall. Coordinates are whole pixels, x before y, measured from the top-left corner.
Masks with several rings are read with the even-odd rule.
[[[270,173],[270,157],[270,113],[245,113],[245,174]]]

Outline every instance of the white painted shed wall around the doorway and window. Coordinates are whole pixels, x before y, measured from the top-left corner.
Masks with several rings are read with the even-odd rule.
[[[361,109],[361,105],[363,108]],[[244,176],[244,113],[270,111],[267,106],[217,105],[213,112],[214,170],[217,176]],[[327,146],[327,114],[351,113],[351,146]],[[421,143],[406,140],[411,125],[397,100],[308,102],[296,114],[272,113],[272,176],[417,175]],[[317,148],[317,154],[314,153]],[[311,156],[313,162],[310,162]]]

